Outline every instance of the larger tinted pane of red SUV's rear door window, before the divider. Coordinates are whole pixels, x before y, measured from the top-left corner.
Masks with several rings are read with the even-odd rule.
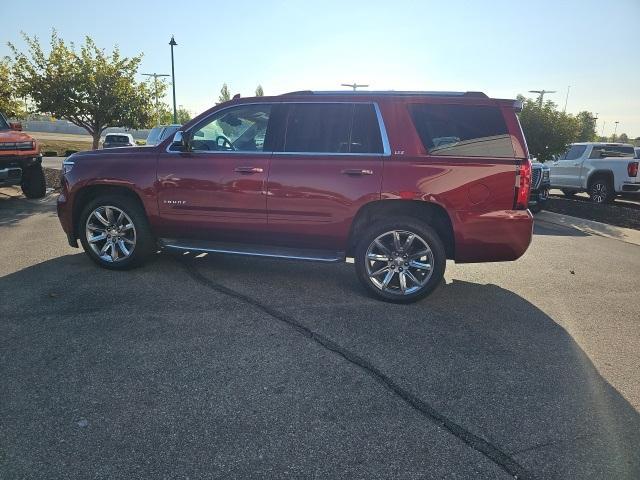
[[[353,105],[291,104],[285,152],[349,153]]]

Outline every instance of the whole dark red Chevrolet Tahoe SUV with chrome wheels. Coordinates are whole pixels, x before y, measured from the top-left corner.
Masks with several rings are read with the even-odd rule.
[[[72,155],[58,215],[69,243],[106,268],[158,246],[354,257],[369,292],[411,302],[447,258],[515,260],[529,246],[519,108],[476,92],[234,99],[157,146]]]

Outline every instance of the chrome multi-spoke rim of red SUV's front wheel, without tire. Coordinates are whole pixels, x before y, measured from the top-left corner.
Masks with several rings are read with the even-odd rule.
[[[91,250],[105,262],[121,262],[136,247],[136,228],[125,212],[106,205],[96,208],[87,218],[86,239]]]

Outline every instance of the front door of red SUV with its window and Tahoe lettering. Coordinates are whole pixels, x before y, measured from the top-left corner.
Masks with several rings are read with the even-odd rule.
[[[186,132],[191,151],[158,159],[162,236],[251,242],[266,228],[269,104],[213,113]]]

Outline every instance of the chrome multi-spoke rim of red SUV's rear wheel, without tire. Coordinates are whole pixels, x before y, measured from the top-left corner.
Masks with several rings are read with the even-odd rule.
[[[378,236],[366,254],[369,280],[383,292],[410,295],[417,292],[433,274],[433,252],[420,236],[392,230]]]

